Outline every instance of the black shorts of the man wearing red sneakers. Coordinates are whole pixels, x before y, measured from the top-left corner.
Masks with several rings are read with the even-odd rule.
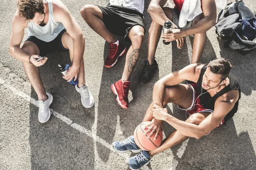
[[[129,31],[133,26],[140,25],[144,28],[144,17],[139,11],[124,6],[98,6],[102,10],[103,22],[113,34],[124,36],[129,41]]]

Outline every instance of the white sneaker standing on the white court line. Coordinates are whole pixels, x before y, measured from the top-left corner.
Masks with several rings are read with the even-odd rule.
[[[51,111],[49,106],[52,104],[52,95],[46,92],[48,99],[43,102],[43,100],[38,100],[39,111],[38,111],[38,121],[40,123],[45,123],[50,119]]]

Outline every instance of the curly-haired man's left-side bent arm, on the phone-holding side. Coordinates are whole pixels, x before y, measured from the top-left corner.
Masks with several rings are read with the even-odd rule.
[[[20,18],[16,12],[12,20],[12,34],[10,38],[9,52],[15,59],[22,62],[29,62],[30,55],[20,48],[25,28],[26,21]]]

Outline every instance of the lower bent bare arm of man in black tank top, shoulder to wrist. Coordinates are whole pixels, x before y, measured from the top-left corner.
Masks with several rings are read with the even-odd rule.
[[[222,97],[219,97],[215,102],[214,112],[207,116],[207,118],[205,118],[199,125],[181,121],[168,113],[165,114],[165,121],[172,125],[172,127],[174,127],[181,134],[199,139],[215,129],[215,127],[221,123],[227,113],[232,110],[239,98],[239,93],[237,90],[232,91],[230,96],[232,99],[228,99],[226,101],[222,100]]]

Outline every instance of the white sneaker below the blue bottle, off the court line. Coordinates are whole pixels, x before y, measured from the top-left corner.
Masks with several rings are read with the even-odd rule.
[[[81,85],[81,88],[76,85],[76,91],[81,94],[81,102],[85,108],[91,108],[94,105],[93,95],[90,93],[88,85]]]

